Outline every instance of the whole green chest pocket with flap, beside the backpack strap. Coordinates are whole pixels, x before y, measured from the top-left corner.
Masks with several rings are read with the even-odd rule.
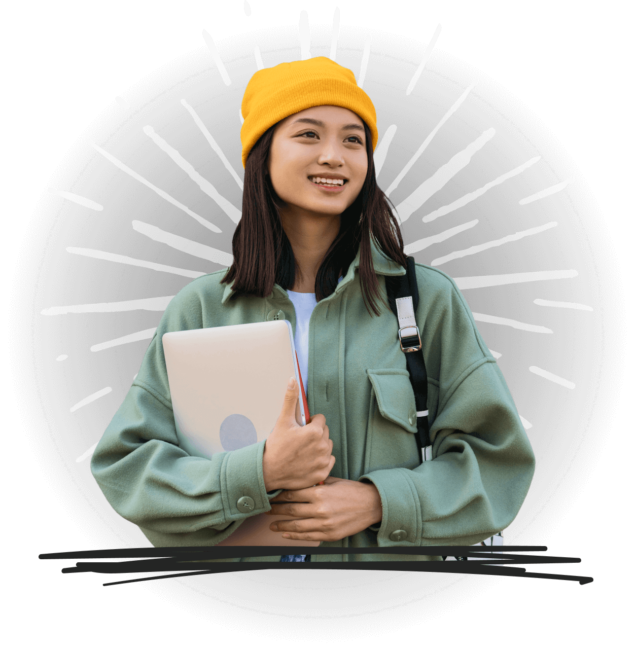
[[[370,391],[365,473],[419,466],[415,393],[408,370],[367,370]]]

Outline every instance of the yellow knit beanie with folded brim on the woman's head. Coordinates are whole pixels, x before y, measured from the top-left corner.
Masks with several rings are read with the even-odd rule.
[[[352,70],[328,57],[279,63],[252,75],[240,112],[242,168],[263,133],[280,120],[313,106],[341,106],[357,113],[372,135],[372,150],[379,140],[377,112],[370,97],[357,85]]]

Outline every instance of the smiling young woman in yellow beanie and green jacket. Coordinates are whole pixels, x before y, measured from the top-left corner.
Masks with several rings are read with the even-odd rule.
[[[213,546],[270,512],[272,529],[342,549],[313,562],[440,560],[346,549],[473,545],[504,530],[528,493],[534,452],[465,298],[422,264],[415,318],[432,450],[419,461],[415,398],[385,300],[386,278],[407,263],[375,179],[369,96],[350,70],[316,57],[255,73],[241,114],[233,264],[188,283],[164,312],[92,456],[106,499],[155,547]],[[188,456],[177,446],[162,335],[275,317],[292,324],[311,422],[296,423],[292,382],[266,441]],[[245,495],[250,512],[238,504]]]

